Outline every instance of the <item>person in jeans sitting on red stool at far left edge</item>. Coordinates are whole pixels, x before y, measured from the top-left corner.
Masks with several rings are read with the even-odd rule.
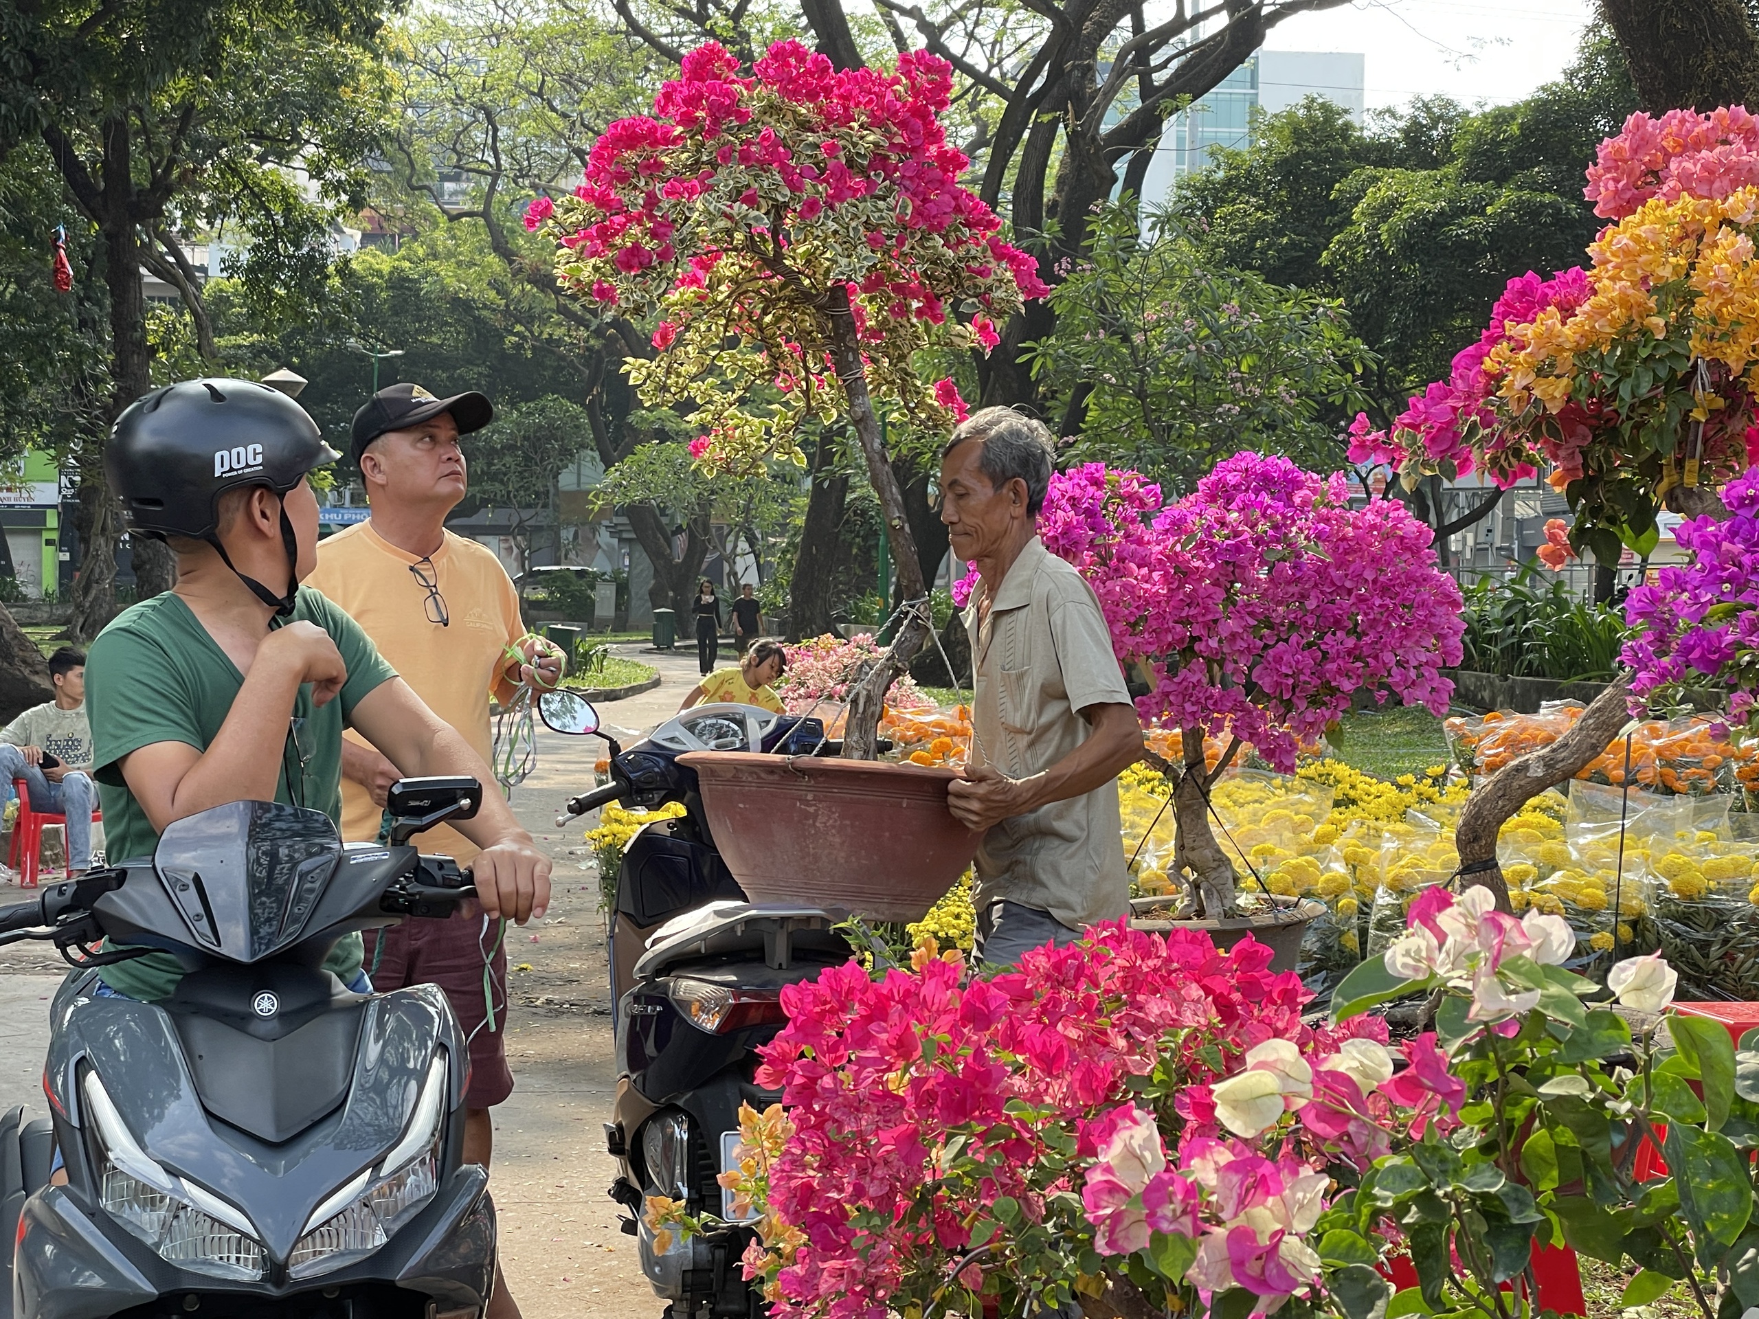
[[[86,658],[72,645],[49,656],[55,700],[32,705],[0,730],[0,777],[23,779],[32,811],[67,816],[67,874],[91,869],[91,725]],[[47,760],[47,763],[44,763]]]

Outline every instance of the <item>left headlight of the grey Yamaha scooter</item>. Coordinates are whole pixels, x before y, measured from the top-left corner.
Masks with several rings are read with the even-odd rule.
[[[99,1147],[99,1201],[104,1212],[146,1242],[160,1259],[216,1279],[262,1277],[262,1243],[245,1212],[150,1157],[121,1120],[104,1082],[81,1083]]]

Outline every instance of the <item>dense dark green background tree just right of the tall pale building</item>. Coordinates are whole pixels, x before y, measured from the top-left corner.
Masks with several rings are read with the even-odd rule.
[[[1428,98],[1365,128],[1319,98],[1266,116],[1177,209],[1212,260],[1342,301],[1379,361],[1369,412],[1384,420],[1448,375],[1511,274],[1581,260],[1599,229],[1581,172],[1632,109],[1595,30],[1562,81],[1513,106]]]

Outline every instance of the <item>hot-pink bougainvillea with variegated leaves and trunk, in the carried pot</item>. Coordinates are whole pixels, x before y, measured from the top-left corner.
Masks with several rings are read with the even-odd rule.
[[[996,322],[1045,292],[959,183],[969,162],[941,125],[950,93],[952,67],[922,51],[894,70],[836,70],[788,40],[746,74],[711,42],[531,220],[558,243],[563,287],[658,317],[658,353],[630,359],[630,380],[651,406],[691,404],[698,461],[797,454],[802,424],[848,415],[906,600],[927,589],[874,403],[955,422],[959,390],[925,383],[916,353],[987,352]],[[927,631],[925,608],[908,617],[853,693],[846,754],[872,756],[887,686]]]

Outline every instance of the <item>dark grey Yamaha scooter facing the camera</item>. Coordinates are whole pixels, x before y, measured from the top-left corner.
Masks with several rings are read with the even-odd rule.
[[[345,934],[449,916],[468,874],[408,841],[470,818],[475,779],[390,790],[390,846],[320,811],[234,802],[148,860],[0,907],[0,943],[77,967],[55,995],[51,1113],[0,1119],[0,1319],[477,1319],[494,1206],[463,1162],[468,1053],[431,985],[352,994]],[[130,944],[183,964],[157,1004],[100,994]],[[55,1150],[67,1170],[51,1185]]]

